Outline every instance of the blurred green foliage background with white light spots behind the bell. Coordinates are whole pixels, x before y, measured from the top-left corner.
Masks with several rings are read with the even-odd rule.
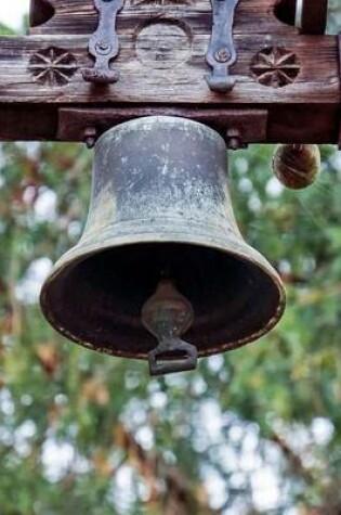
[[[29,2],[14,3],[2,34],[25,31]],[[286,283],[283,321],[152,379],[146,363],[66,342],[37,305],[82,232],[93,153],[1,143],[1,515],[341,514],[341,153],[323,146],[319,179],[292,192],[272,152],[229,164],[241,232]]]

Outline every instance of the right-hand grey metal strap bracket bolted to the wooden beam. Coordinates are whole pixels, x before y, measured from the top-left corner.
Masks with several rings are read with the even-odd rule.
[[[227,93],[236,83],[236,79],[228,75],[228,68],[237,59],[232,29],[239,0],[211,0],[211,2],[213,26],[206,62],[213,72],[206,75],[205,80],[211,91]]]

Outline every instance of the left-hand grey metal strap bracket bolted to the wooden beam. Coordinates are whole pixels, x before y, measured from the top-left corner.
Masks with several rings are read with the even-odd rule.
[[[115,83],[119,75],[109,68],[109,62],[119,50],[116,34],[117,13],[122,9],[124,0],[94,0],[100,13],[99,27],[89,40],[89,53],[95,57],[93,68],[83,68],[82,76],[87,82]]]

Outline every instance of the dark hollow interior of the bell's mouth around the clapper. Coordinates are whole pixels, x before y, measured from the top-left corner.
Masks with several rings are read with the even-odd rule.
[[[147,359],[156,347],[141,311],[165,272],[193,305],[194,323],[184,336],[198,356],[259,338],[284,311],[281,282],[253,249],[250,258],[162,242],[102,248],[74,259],[71,254],[43,285],[42,310],[69,339],[109,355]]]

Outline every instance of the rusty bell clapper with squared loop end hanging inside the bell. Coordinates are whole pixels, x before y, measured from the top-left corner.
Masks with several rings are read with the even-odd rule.
[[[158,339],[158,346],[148,352],[150,375],[196,369],[196,347],[180,338],[194,322],[193,306],[170,280],[159,281],[142,308],[142,322]]]

